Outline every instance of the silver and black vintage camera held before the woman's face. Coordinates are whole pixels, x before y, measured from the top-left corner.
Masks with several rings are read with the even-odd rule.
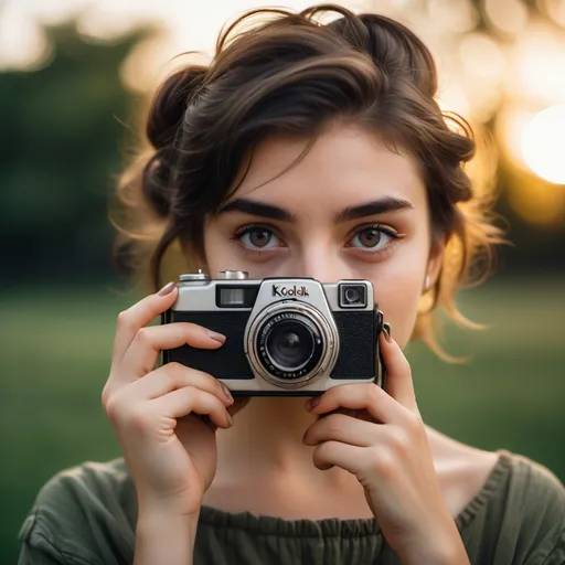
[[[204,371],[234,395],[316,395],[348,383],[385,386],[379,352],[383,313],[367,280],[321,284],[225,270],[181,275],[162,323],[193,322],[227,337],[217,350],[183,345],[162,352]]]

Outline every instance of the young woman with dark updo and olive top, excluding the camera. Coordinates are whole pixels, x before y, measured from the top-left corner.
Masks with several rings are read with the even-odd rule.
[[[329,9],[339,18],[320,23]],[[119,315],[103,392],[124,458],[42,489],[20,564],[565,563],[561,482],[418,413],[403,348],[436,347],[433,310],[457,316],[457,288],[500,241],[462,168],[468,130],[434,102],[428,50],[397,22],[337,6],[266,13],[154,97],[151,152],[120,191],[143,235],[122,243],[143,250],[158,234],[139,256],[156,294]],[[225,341],[147,327],[178,296],[174,282],[157,291],[174,248],[181,273],[372,281],[394,335],[379,338],[386,391],[234,402],[214,375],[156,369],[161,350]]]

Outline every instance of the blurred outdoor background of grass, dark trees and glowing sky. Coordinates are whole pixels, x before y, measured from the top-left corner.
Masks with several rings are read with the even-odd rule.
[[[392,15],[431,47],[438,102],[481,145],[513,246],[459,307],[449,365],[408,347],[428,424],[565,479],[565,2],[341,2]],[[0,557],[41,486],[119,449],[103,414],[117,313],[139,297],[110,260],[107,199],[147,95],[178,53],[213,54],[225,21],[263,2],[0,1]],[[280,6],[302,9],[306,1]]]

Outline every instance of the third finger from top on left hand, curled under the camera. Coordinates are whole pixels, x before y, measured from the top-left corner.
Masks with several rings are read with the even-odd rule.
[[[148,401],[185,386],[194,386],[217,396],[226,407],[234,403],[227,388],[217,379],[181,363],[167,363],[138,379],[128,385],[128,395],[132,401]]]

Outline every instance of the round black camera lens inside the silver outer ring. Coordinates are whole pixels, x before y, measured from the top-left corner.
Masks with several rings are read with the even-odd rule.
[[[320,361],[323,340],[316,322],[300,312],[281,312],[269,318],[258,332],[258,356],[274,376],[298,379]]]

